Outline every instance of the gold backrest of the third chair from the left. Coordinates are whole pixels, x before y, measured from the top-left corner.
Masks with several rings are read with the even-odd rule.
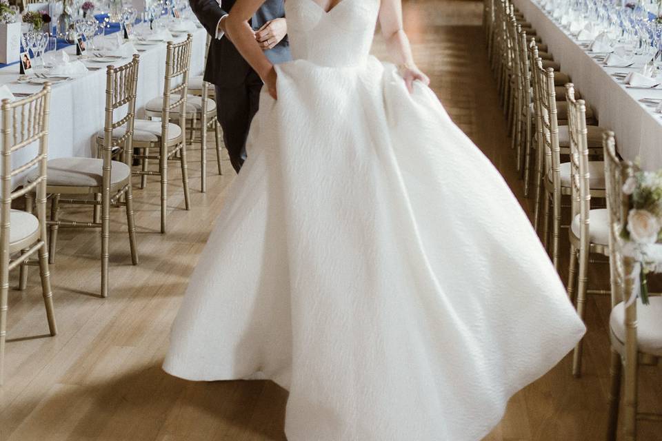
[[[179,126],[181,130],[181,139],[185,136],[186,122],[186,97],[188,95],[188,72],[191,67],[191,48],[193,45],[193,35],[181,43],[172,43],[168,41],[168,47],[165,52],[165,81],[163,83],[163,110],[162,110],[162,130],[161,139],[168,140],[168,123],[170,122],[170,111],[179,107]],[[179,98],[172,101],[171,96],[176,95]]]

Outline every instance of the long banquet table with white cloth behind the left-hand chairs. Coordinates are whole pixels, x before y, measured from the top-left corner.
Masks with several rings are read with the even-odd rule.
[[[206,32],[197,28],[193,34],[190,76],[200,74],[205,59]],[[113,38],[112,35],[107,38]],[[175,36],[174,42],[183,41],[185,34]],[[165,75],[165,41],[152,44],[134,45],[140,55],[138,87],[136,97],[137,115],[143,114],[143,107],[150,99],[163,94],[163,76]],[[62,51],[62,50],[61,50]],[[58,52],[61,52],[58,51]],[[63,48],[71,59],[76,58],[76,46]],[[59,55],[59,54],[57,54]],[[85,61],[90,70],[86,74],[52,85],[50,99],[50,130],[48,136],[48,157],[68,156],[92,157],[96,154],[97,132],[103,130],[104,109],[106,105],[106,66],[123,65],[131,58],[117,59],[112,63],[94,63]],[[39,61],[37,61],[39,65]],[[0,69],[0,85],[7,85],[14,94],[34,93],[42,85],[19,83],[19,64],[8,65]],[[28,158],[29,151],[18,152],[12,156],[14,166]],[[16,185],[21,182],[15,182]]]

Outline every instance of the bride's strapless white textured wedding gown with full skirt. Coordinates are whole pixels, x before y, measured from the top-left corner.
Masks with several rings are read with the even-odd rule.
[[[490,161],[370,57],[379,3],[285,2],[294,61],[163,368],[274,380],[290,441],[480,440],[585,328]]]

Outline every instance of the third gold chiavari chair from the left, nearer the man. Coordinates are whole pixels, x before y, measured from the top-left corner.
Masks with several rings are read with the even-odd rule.
[[[141,161],[141,170],[134,172],[141,176],[141,188],[147,184],[147,176],[159,176],[161,180],[161,233],[167,228],[166,215],[168,214],[168,161],[178,160],[181,165],[181,181],[184,191],[185,209],[191,209],[190,193],[188,191],[188,165],[186,163],[186,112],[188,112],[188,72],[191,65],[192,34],[181,43],[168,41],[165,56],[165,81],[163,96],[157,101],[159,109],[146,112],[149,117],[161,118],[161,130],[154,130],[154,122],[137,120],[139,127],[144,128],[153,136],[148,141],[136,143],[134,147],[140,150],[135,155]],[[171,119],[177,119],[174,124]],[[151,124],[150,124],[151,123]],[[158,152],[156,155],[150,152]],[[159,161],[159,171],[149,170],[148,161]]]

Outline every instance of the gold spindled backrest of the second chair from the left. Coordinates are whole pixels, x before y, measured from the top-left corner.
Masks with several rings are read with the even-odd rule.
[[[112,157],[119,156],[131,166],[133,154],[133,131],[136,118],[136,94],[138,86],[138,67],[140,56],[134,55],[132,61],[116,68],[112,65],[106,70],[106,121],[103,127],[103,182],[110,183]],[[126,112],[118,112],[124,109]],[[121,114],[121,116],[118,115]],[[121,136],[113,137],[113,133]]]

